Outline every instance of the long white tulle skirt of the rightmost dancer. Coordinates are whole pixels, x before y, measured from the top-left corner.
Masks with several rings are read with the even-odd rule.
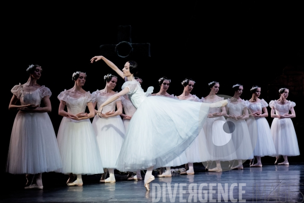
[[[276,156],[300,155],[294,126],[290,118],[274,118],[271,124],[271,133],[276,148]]]

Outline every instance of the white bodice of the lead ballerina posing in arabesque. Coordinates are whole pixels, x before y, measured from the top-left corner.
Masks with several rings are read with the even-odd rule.
[[[147,98],[147,95],[151,93],[151,92],[144,92],[138,81],[125,82],[122,86],[122,89],[125,89],[126,87],[129,88],[129,92],[127,93],[127,95],[136,109],[138,109],[138,107],[144,101],[144,99]],[[152,90],[153,87],[148,88],[148,91],[152,91]]]

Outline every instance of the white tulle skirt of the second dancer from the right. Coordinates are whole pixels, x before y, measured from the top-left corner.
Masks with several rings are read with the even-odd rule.
[[[254,156],[271,156],[276,153],[268,121],[264,117],[247,119]]]

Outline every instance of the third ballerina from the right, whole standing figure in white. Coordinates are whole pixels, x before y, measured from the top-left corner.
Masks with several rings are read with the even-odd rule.
[[[243,93],[243,86],[240,84],[237,84],[236,86],[234,85],[233,90],[235,91],[234,96],[228,99],[228,104],[226,105],[226,117],[228,117],[227,122],[233,122],[235,126],[231,133],[232,141],[236,149],[238,165],[231,167],[231,169],[242,170],[242,160],[253,158],[250,133],[248,125],[245,121],[249,117],[249,113],[247,106],[240,98],[241,94]]]

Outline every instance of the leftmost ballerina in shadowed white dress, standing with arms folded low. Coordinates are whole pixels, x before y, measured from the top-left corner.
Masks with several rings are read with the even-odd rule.
[[[42,173],[62,167],[56,134],[48,115],[52,106],[49,88],[37,84],[40,65],[31,64],[26,83],[15,85],[9,110],[19,110],[11,133],[6,172],[26,174],[25,189],[43,189]],[[17,101],[20,105],[16,105]],[[44,107],[40,107],[41,101]],[[35,181],[33,182],[33,179]]]

